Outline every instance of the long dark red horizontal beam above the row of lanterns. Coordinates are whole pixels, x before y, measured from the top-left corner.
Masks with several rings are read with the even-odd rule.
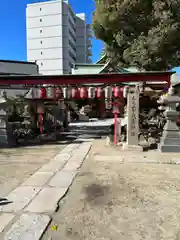
[[[87,74],[87,75],[23,75],[0,76],[0,85],[85,85],[85,84],[121,84],[127,82],[167,82],[173,72],[137,72],[122,74]],[[166,85],[166,86],[167,86]]]

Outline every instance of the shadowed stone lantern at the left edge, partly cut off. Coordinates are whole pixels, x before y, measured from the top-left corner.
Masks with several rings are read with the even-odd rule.
[[[15,146],[12,125],[8,123],[8,105],[4,96],[0,96],[0,147]]]

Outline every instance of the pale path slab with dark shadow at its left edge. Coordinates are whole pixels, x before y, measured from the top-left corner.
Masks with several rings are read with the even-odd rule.
[[[12,203],[1,206],[0,212],[17,212],[22,210],[39,191],[39,187],[17,187],[6,197]]]

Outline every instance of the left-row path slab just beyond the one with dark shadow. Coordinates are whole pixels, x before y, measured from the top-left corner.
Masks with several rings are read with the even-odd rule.
[[[21,186],[44,186],[53,176],[53,172],[36,172],[28,178]]]

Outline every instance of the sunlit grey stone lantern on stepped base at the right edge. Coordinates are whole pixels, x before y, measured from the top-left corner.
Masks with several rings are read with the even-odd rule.
[[[180,103],[180,97],[175,95],[174,88],[171,87],[168,95],[161,97],[158,103],[167,105],[164,113],[167,122],[158,149],[161,152],[180,152],[180,130],[176,124],[179,115],[176,111],[176,104]]]

